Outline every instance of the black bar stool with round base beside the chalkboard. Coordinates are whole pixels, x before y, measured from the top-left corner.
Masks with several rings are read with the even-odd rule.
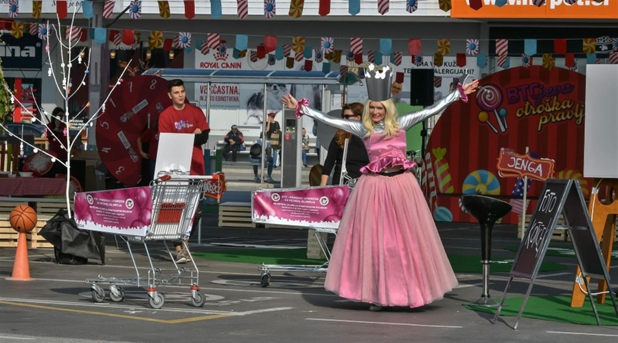
[[[497,307],[499,303],[492,300],[489,295],[489,264],[492,255],[492,228],[494,223],[501,217],[504,217],[512,209],[508,202],[481,196],[479,194],[470,194],[461,197],[461,202],[468,210],[468,213],[477,218],[481,225],[481,263],[483,263],[483,294],[479,300],[468,305]]]

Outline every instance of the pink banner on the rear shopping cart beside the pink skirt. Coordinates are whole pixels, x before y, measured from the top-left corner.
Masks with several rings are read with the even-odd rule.
[[[256,223],[338,228],[349,196],[347,186],[254,191],[252,218]]]

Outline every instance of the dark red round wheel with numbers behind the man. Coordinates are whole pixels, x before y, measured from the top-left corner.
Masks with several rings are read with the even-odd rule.
[[[110,174],[126,187],[141,180],[137,139],[171,105],[168,81],[152,75],[126,78],[105,103],[96,123],[97,149]]]

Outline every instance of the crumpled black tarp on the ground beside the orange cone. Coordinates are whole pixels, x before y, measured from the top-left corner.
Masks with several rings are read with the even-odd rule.
[[[39,235],[54,246],[58,263],[82,264],[84,259],[100,259],[105,264],[105,237],[96,231],[80,230],[65,209],[58,210]]]

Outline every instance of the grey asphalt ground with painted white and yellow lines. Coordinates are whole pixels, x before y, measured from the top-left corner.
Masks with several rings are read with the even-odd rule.
[[[476,225],[438,227],[449,254],[480,256]],[[208,214],[201,244],[193,239],[190,248],[207,252],[228,245],[306,246],[307,235],[304,229],[218,228],[216,215]],[[495,226],[492,258],[513,259],[515,252],[505,248],[519,241],[515,226]],[[160,241],[147,246],[155,268],[174,268]],[[192,305],[188,285],[174,285],[157,288],[165,303],[152,309],[144,287],[124,287],[124,300],[113,302],[102,285],[106,296],[94,303],[91,285],[85,282],[98,276],[135,280],[131,257],[146,276],[143,245],[133,244],[129,253],[122,240],[117,245],[108,237],[105,265],[96,260],[57,265],[51,249],[31,249],[33,281],[7,279],[14,254],[14,248],[0,248],[0,342],[618,342],[618,327],[521,318],[515,330],[516,318],[503,316],[492,324],[492,315],[463,306],[481,295],[480,273],[457,274],[459,286],[430,305],[373,312],[367,304],[325,291],[323,273],[272,272],[270,285],[262,287],[258,265],[197,259],[203,307]],[[547,256],[545,261],[568,268],[539,274],[532,295],[570,295],[575,259]],[[618,278],[618,265],[610,274]],[[492,298],[501,298],[507,279],[507,273],[490,274]],[[525,294],[528,285],[529,280],[516,279],[509,295]]]

